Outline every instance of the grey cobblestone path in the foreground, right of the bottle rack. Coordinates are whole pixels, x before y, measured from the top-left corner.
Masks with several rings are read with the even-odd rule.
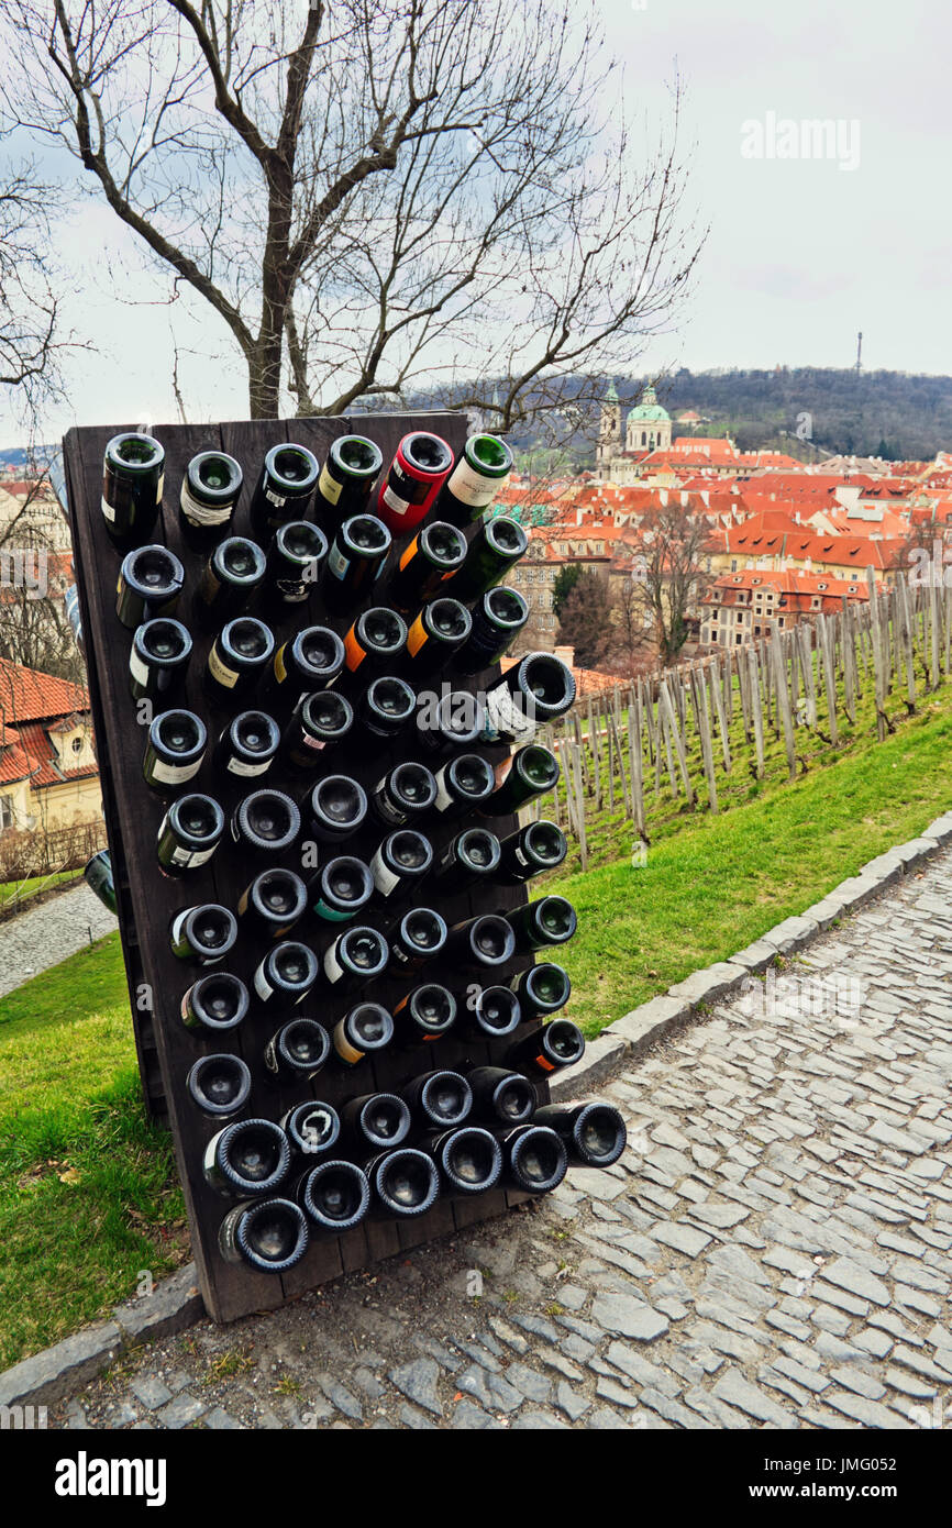
[[[950,972],[952,851],[790,961],[795,989],[769,975],[602,1089],[630,1122],[610,1172],[202,1322],[50,1423],[952,1426]]]

